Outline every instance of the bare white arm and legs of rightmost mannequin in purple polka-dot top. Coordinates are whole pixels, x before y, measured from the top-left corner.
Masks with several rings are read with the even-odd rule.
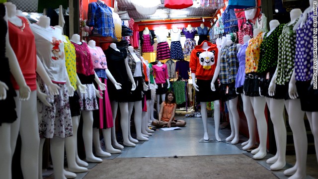
[[[314,1],[309,0],[310,6],[304,11],[303,17],[294,26],[296,30],[299,25],[303,25],[307,18],[307,13],[314,10]],[[313,81],[312,81],[313,83]],[[292,98],[288,100],[286,108],[288,108],[289,124],[293,131],[294,145],[296,151],[296,164],[294,167],[284,171],[286,176],[291,176],[289,179],[300,179],[306,177],[306,161],[307,161],[307,133],[304,123],[304,111],[300,111],[300,99],[297,99],[298,93],[296,88],[295,71],[289,82],[289,96]],[[286,103],[285,103],[286,104]],[[314,135],[316,154],[318,154],[318,112],[305,111],[308,118],[312,133]],[[317,155],[318,157],[318,155]]]

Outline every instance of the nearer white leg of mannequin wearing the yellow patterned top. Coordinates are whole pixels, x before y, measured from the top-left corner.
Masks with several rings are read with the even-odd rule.
[[[259,135],[259,146],[258,149],[254,149],[252,152],[255,153],[253,159],[262,159],[266,156],[266,139],[267,139],[267,123],[265,118],[265,104],[266,100],[263,96],[250,97],[252,106],[254,108],[254,115],[256,117],[257,122],[257,130]],[[251,152],[251,153],[252,153]],[[252,153],[252,154],[253,154]]]

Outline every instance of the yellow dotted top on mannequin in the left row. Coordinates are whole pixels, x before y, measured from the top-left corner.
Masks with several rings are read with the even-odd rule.
[[[76,52],[75,47],[69,40],[69,37],[64,35],[67,42],[64,42],[64,52],[65,52],[65,65],[66,70],[69,75],[69,79],[72,87],[76,90],[77,86],[77,75],[76,75]]]

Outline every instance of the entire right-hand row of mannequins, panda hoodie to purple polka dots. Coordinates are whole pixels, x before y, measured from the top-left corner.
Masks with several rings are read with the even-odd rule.
[[[253,38],[243,37],[244,44],[234,44],[230,38],[221,45],[204,41],[191,53],[190,68],[193,87],[201,104],[205,141],[207,130],[206,102],[214,101],[215,138],[221,141],[218,128],[220,121],[219,99],[227,103],[231,135],[226,141],[239,142],[238,95],[243,100],[247,119],[249,140],[242,143],[243,150],[255,145],[255,119],[259,135],[259,146],[251,151],[253,159],[266,156],[267,123],[265,104],[269,108],[274,125],[277,153],[266,162],[270,169],[281,170],[286,165],[286,126],[284,106],[293,131],[296,164],[285,170],[291,179],[305,178],[307,158],[307,134],[304,114],[310,122],[318,152],[318,100],[317,89],[313,89],[313,1],[304,12],[293,9],[291,21],[280,24],[269,22],[270,31],[253,30]],[[220,77],[221,86],[217,83]],[[197,79],[195,82],[194,79]],[[209,94],[209,95],[207,95]]]

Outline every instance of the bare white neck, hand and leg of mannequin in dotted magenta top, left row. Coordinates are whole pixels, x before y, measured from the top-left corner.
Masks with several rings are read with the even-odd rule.
[[[71,40],[72,42],[76,44],[82,44],[83,42],[80,42],[80,37],[78,34],[72,35]],[[95,82],[98,84],[99,89],[105,90],[106,85],[101,83],[99,78],[97,77],[95,73]],[[99,90],[95,89],[95,95],[99,98],[102,98],[102,96],[99,93]],[[86,161],[92,162],[92,163],[100,163],[102,162],[102,159],[99,159],[93,155],[92,152],[92,135],[93,135],[93,111],[81,111],[81,115],[83,118],[83,141],[84,141],[84,147],[85,147],[85,155],[86,155]],[[95,155],[99,157],[110,157],[111,154],[108,152],[104,152],[101,150],[100,146],[95,148]]]

